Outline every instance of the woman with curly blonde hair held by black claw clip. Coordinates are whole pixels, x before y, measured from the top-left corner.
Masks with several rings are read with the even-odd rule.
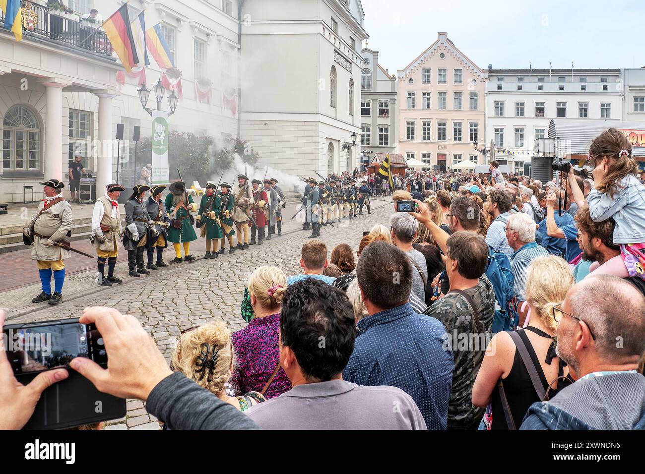
[[[180,371],[188,379],[205,388],[215,397],[245,411],[266,400],[251,391],[241,397],[229,397],[225,385],[233,370],[233,346],[231,331],[223,321],[203,324],[182,331],[172,353],[170,368]]]

